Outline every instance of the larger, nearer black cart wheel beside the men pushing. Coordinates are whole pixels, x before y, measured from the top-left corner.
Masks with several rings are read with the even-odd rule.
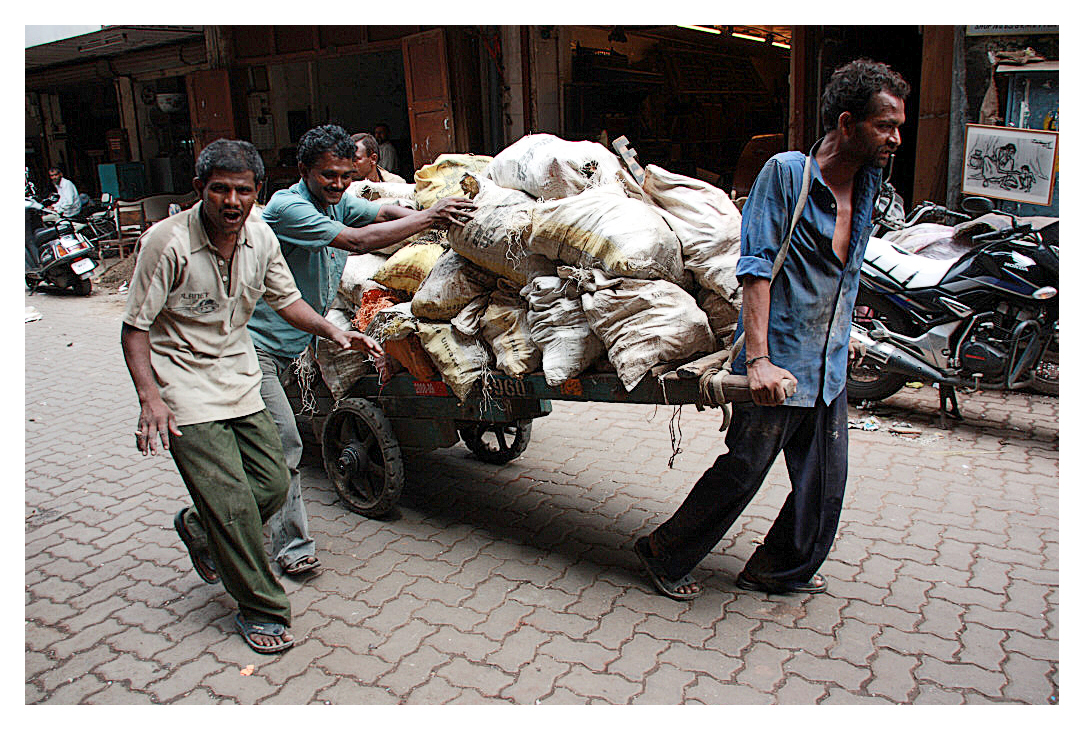
[[[380,517],[403,490],[403,459],[391,424],[363,398],[341,401],[324,422],[324,470],[351,511]]]

